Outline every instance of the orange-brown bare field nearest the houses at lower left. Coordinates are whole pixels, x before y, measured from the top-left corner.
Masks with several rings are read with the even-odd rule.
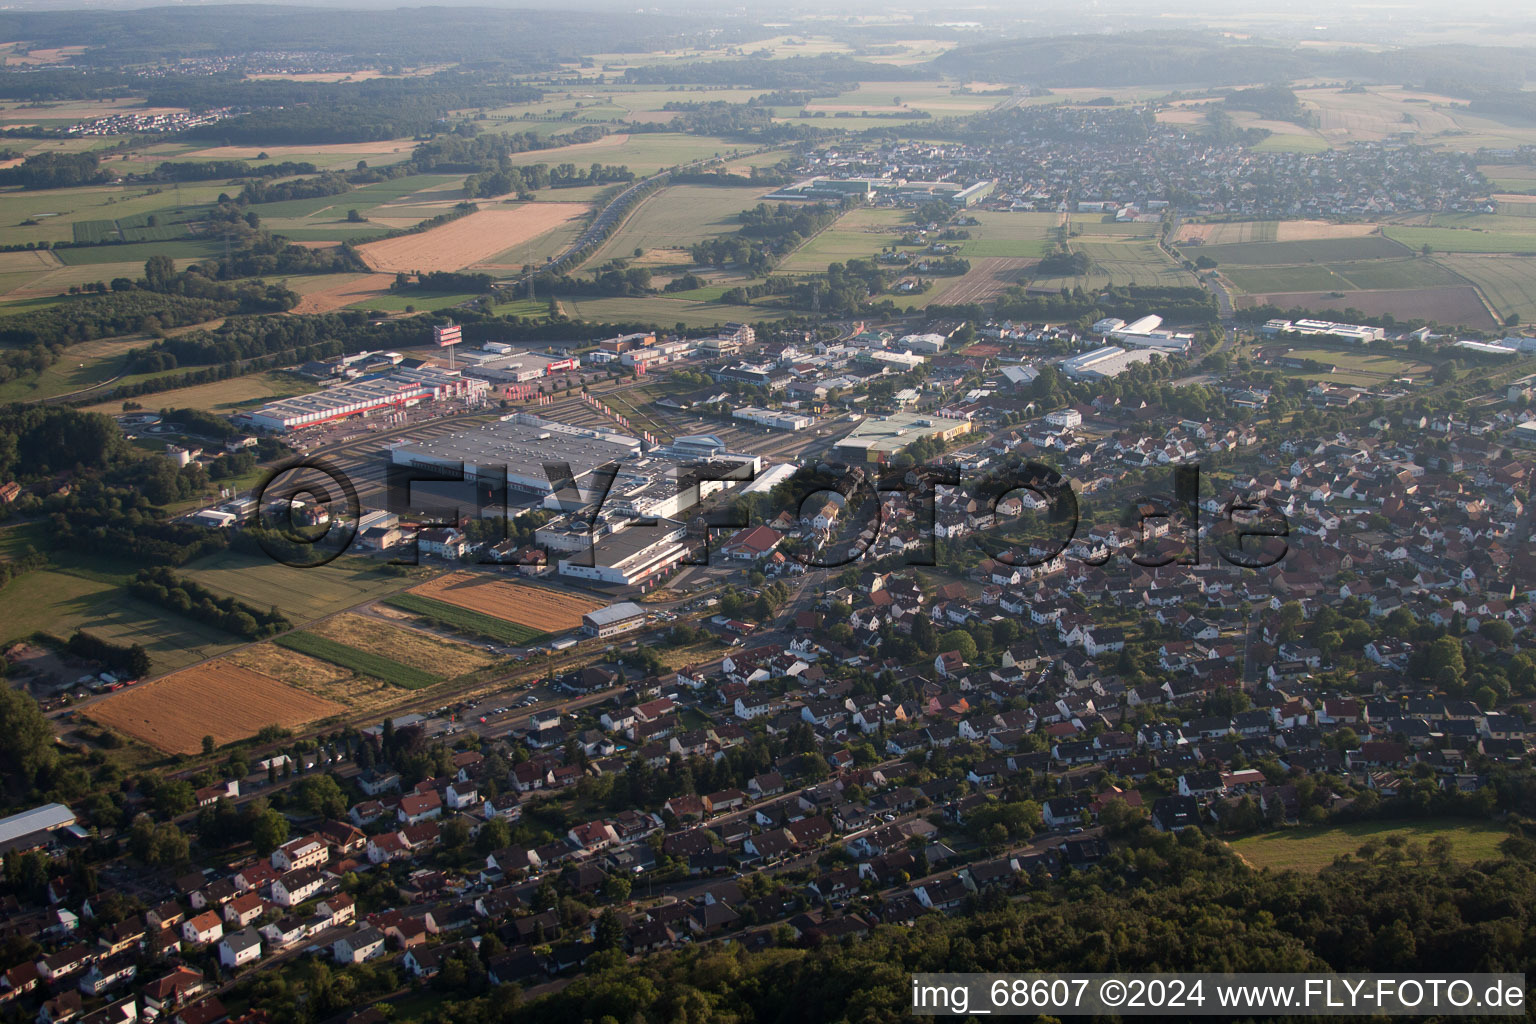
[[[197,754],[204,735],[230,743],[263,726],[296,728],[343,711],[333,700],[214,660],[114,694],[86,715],[167,754]]]

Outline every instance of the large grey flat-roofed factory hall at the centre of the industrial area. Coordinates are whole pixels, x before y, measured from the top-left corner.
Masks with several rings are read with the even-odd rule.
[[[513,494],[553,494],[547,462],[565,462],[578,490],[587,490],[593,470],[630,459],[641,439],[605,430],[558,424],[531,413],[516,413],[479,430],[432,441],[407,441],[390,457],[396,465],[456,471],[465,481],[507,484]]]

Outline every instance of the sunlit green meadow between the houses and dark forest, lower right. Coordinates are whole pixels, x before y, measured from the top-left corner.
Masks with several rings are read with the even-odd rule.
[[[1471,863],[1499,860],[1499,843],[1508,832],[1482,821],[1433,818],[1427,821],[1364,821],[1326,829],[1284,829],[1250,835],[1232,843],[1253,867],[1316,874],[1342,854],[1355,854],[1370,841],[1402,837],[1410,844],[1427,846],[1436,837],[1452,844],[1452,858]]]

